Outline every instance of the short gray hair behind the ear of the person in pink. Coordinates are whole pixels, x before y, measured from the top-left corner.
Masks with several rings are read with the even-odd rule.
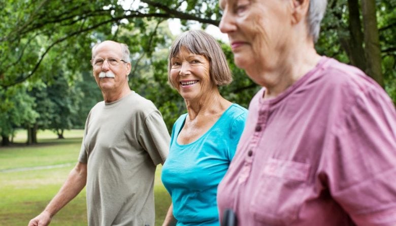
[[[327,0],[310,0],[307,16],[309,34],[314,42],[319,38],[320,22],[326,11]]]

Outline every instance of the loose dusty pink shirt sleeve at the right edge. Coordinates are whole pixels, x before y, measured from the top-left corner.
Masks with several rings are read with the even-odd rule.
[[[366,90],[333,133],[328,155],[333,198],[357,225],[396,225],[396,112]]]

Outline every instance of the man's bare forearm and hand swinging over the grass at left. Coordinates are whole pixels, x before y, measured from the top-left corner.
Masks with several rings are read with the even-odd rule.
[[[52,217],[80,193],[87,181],[87,164],[77,163],[56,196],[28,226],[47,226]]]

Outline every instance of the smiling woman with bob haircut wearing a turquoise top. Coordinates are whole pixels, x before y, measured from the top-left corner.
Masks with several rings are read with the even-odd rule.
[[[217,185],[234,157],[247,110],[218,86],[232,76],[220,45],[201,30],[181,34],[169,54],[168,79],[187,113],[173,125],[161,179],[172,197],[163,225],[219,225]]]

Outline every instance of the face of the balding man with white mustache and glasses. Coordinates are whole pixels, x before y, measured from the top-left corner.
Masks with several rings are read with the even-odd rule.
[[[92,51],[92,62],[97,59],[106,59],[102,65],[92,65],[93,76],[102,92],[117,92],[128,86],[127,75],[130,72],[130,63],[120,61],[113,66],[109,61],[122,59],[122,50],[119,43],[105,41],[97,45]]]

